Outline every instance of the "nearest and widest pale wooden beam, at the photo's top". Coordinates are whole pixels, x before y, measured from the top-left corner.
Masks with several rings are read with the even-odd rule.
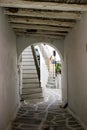
[[[0,6],[43,10],[87,11],[87,5],[61,4],[53,2],[33,2],[29,0],[0,0]]]

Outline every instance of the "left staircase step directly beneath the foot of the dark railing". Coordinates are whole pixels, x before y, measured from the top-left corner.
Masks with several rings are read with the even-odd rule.
[[[23,94],[33,94],[33,93],[42,93],[42,88],[22,88]]]

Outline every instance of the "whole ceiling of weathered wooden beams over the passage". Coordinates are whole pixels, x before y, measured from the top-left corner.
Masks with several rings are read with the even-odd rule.
[[[0,0],[17,35],[65,38],[87,11],[87,0]]]

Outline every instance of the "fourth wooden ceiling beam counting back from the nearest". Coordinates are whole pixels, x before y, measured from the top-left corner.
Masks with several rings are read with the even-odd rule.
[[[70,28],[63,28],[58,26],[44,26],[44,25],[28,25],[28,24],[11,24],[12,28],[18,29],[39,29],[39,30],[48,30],[48,31],[66,31],[69,32]]]

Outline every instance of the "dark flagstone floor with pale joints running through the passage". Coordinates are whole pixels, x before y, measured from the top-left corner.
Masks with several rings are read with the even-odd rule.
[[[60,104],[52,95],[47,102],[22,104],[12,130],[84,130]]]

